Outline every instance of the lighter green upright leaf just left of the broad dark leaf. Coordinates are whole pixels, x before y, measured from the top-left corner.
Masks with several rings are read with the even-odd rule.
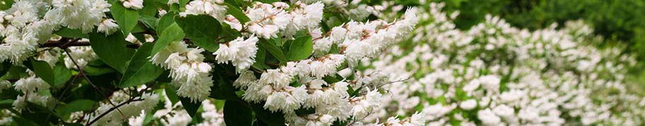
[[[159,35],[159,39],[157,40],[157,42],[155,42],[150,55],[155,55],[157,52],[168,46],[170,42],[182,40],[184,36],[185,34],[181,30],[181,28],[179,28],[179,25],[177,25],[177,23],[173,23],[172,25],[165,28],[161,35]]]

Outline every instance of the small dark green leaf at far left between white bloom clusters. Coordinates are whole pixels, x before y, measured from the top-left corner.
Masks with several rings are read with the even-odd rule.
[[[25,66],[34,71],[36,76],[40,77],[43,81],[47,82],[51,86],[56,84],[56,78],[54,78],[54,70],[50,67],[50,64],[36,59],[29,59],[29,62],[25,62]]]

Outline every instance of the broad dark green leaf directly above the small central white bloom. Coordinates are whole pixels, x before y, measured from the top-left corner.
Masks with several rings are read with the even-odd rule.
[[[221,25],[212,16],[188,15],[175,18],[175,22],[184,30],[184,33],[194,45],[209,52],[215,52],[219,48],[217,38],[221,34]]]

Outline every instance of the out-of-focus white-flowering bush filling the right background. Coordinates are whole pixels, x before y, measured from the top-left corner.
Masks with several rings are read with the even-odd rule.
[[[371,119],[422,107],[427,125],[645,124],[645,99],[626,79],[634,57],[595,47],[602,38],[581,21],[529,31],[486,16],[459,30],[458,12],[442,7],[429,4],[410,41],[363,64],[373,69],[362,72],[409,78],[383,86],[393,96]]]

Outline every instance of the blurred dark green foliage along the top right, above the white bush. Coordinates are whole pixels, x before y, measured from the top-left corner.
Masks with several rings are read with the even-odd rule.
[[[637,55],[629,73],[631,81],[645,87],[645,1],[643,0],[429,0],[446,4],[444,11],[460,11],[457,28],[467,30],[484,21],[487,13],[500,16],[512,26],[535,30],[552,23],[583,20],[596,35],[605,38],[600,48],[627,45],[623,53]],[[396,0],[405,6],[422,6],[418,0]]]

